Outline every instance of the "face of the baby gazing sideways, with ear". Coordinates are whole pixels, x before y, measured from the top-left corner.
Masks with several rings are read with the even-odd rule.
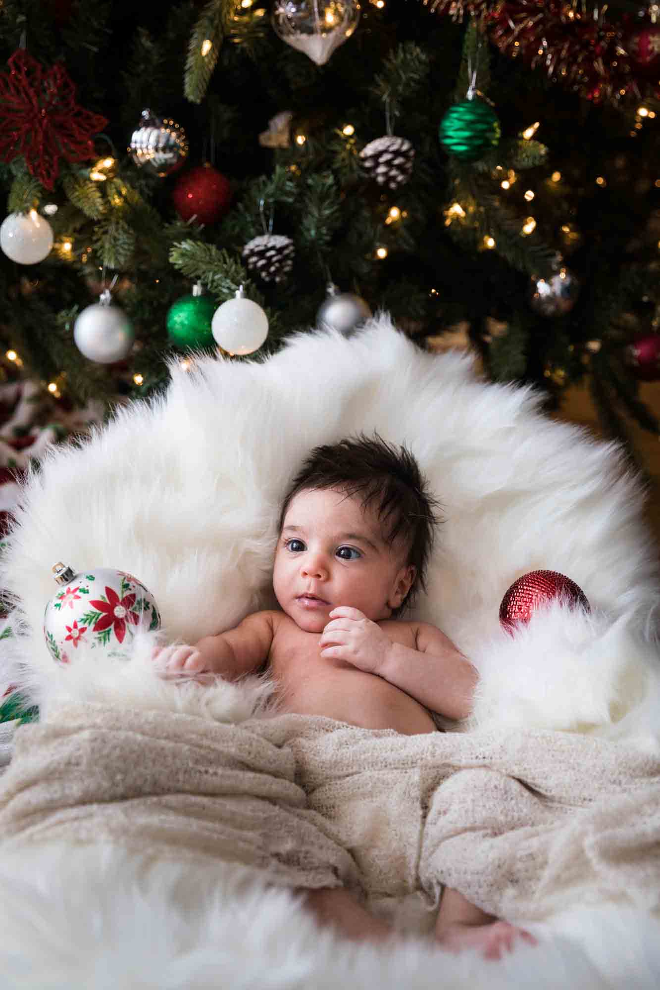
[[[401,604],[414,577],[401,547],[389,547],[378,517],[335,489],[291,499],[275,551],[275,596],[300,629],[321,633],[349,605],[378,622]]]

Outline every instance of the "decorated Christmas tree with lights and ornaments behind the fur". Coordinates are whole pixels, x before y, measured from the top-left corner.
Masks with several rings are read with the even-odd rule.
[[[587,384],[612,436],[660,433],[658,17],[5,0],[5,381],[109,408],[172,356],[385,309],[549,407]]]

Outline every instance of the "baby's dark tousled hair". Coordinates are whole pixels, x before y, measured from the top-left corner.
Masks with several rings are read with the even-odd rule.
[[[385,543],[407,546],[406,565],[415,568],[410,590],[392,613],[399,615],[419,589],[425,588],[426,566],[440,522],[433,498],[414,456],[405,446],[387,444],[382,437],[360,434],[338,444],[313,447],[292,479],[281,505],[279,531],[293,499],[301,491],[334,488],[358,495],[363,511],[376,509]]]

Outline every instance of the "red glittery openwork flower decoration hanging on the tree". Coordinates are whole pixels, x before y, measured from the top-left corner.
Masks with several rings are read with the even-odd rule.
[[[53,189],[58,158],[85,161],[95,157],[91,136],[107,118],[75,102],[75,84],[64,66],[49,69],[18,49],[8,59],[9,72],[0,73],[0,159],[22,154],[31,173]]]

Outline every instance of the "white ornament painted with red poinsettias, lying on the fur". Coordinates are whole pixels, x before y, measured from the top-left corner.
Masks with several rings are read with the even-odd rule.
[[[57,663],[69,663],[81,645],[121,656],[139,629],[160,628],[154,596],[131,574],[109,567],[76,574],[63,563],[53,573],[60,590],[46,606],[44,636]]]

